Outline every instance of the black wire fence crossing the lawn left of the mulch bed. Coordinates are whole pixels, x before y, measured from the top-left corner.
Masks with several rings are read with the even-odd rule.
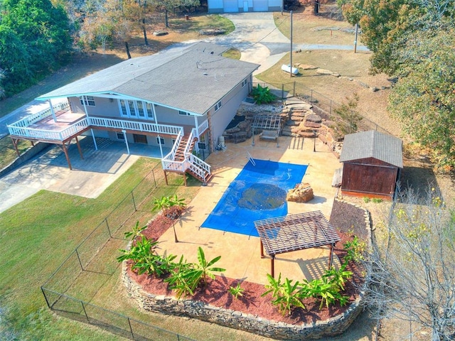
[[[171,183],[173,176],[178,177],[168,175]],[[123,232],[132,229],[141,212],[151,211],[152,198],[161,197],[165,188],[159,164],[85,237],[41,286],[51,310],[132,340],[192,340],[90,303],[100,301],[96,298],[100,289],[117,274],[118,250],[126,244]]]

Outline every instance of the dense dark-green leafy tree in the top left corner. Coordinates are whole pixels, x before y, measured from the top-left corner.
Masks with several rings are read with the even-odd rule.
[[[67,60],[68,17],[49,0],[3,0],[0,67],[6,95],[23,90]]]

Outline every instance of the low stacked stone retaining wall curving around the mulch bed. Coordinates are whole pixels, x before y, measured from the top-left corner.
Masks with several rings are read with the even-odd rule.
[[[344,200],[335,200],[346,202]],[[365,227],[368,235],[368,246],[370,247],[372,243],[370,212],[358,205],[350,202],[346,203],[365,211]],[[236,310],[215,307],[200,301],[193,301],[191,299],[179,301],[171,296],[148,293],[129,276],[126,261],[122,264],[122,281],[127,288],[129,296],[134,298],[139,304],[139,307],[144,310],[166,315],[198,318],[199,320],[245,330],[277,340],[316,340],[321,337],[340,335],[348,329],[363,309],[361,304],[363,293],[360,292],[358,298],[350,304],[348,310],[340,315],[336,315],[328,320],[316,321],[315,323],[289,325]]]

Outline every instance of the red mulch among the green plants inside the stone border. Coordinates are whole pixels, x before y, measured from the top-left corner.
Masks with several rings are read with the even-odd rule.
[[[177,207],[172,207],[173,210],[178,210]],[[181,212],[178,212],[181,213]],[[346,216],[346,211],[343,212],[343,215]],[[149,227],[144,230],[143,234],[147,238],[158,239],[161,234],[166,232],[166,229],[172,226],[172,220],[159,215],[155,220],[149,223]],[[352,239],[352,235],[341,232],[341,229],[338,229],[338,234],[340,234],[341,242],[338,242],[335,247],[335,253],[340,259],[343,259],[345,252],[343,251],[343,243],[347,240]],[[358,296],[358,291],[355,288],[353,282],[360,283],[360,269],[356,266],[350,264],[348,270],[353,271],[354,276],[346,283],[345,295],[350,297],[350,302],[354,301]],[[155,293],[158,295],[167,295],[173,296],[172,291],[168,288],[168,284],[164,283],[162,278],[155,278],[154,276],[146,275],[137,275],[132,270],[131,267],[128,269],[129,276],[131,276],[134,281],[139,283],[145,291]],[[237,286],[238,281],[233,278],[228,278],[225,276],[216,276],[215,281],[209,281],[204,288],[200,290],[192,297],[193,300],[203,301],[205,303],[210,303],[210,305],[215,305],[218,307],[223,307],[231,310],[242,311],[243,313],[249,313],[252,315],[257,315],[261,318],[266,318],[268,320],[282,321],[289,324],[301,324],[301,323],[314,323],[318,320],[327,320],[331,316],[338,315],[343,313],[348,308],[348,305],[341,307],[339,304],[332,305],[329,308],[325,306],[319,310],[319,301],[314,300],[314,298],[308,298],[304,301],[306,309],[294,308],[291,315],[282,315],[271,303],[272,296],[267,295],[261,297],[261,294],[266,291],[264,286],[257,283],[252,283],[248,281],[242,281],[241,286],[245,289],[243,296],[235,299],[230,293],[228,293],[228,288],[230,286]]]

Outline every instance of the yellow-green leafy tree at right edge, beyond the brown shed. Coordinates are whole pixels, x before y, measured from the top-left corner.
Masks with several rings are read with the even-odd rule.
[[[388,109],[439,168],[455,166],[455,28],[410,36]]]

